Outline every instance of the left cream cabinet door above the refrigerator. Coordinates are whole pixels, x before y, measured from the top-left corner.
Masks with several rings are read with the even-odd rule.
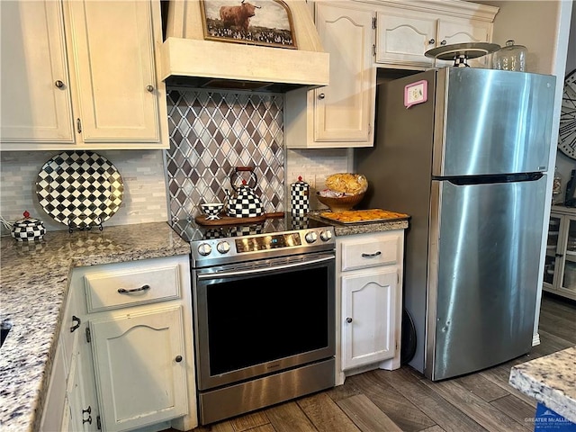
[[[384,9],[376,17],[377,63],[434,66],[434,58],[424,55],[437,43],[437,20],[433,14]]]

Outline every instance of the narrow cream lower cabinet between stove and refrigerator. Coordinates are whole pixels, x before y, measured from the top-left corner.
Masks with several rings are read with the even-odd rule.
[[[337,384],[400,367],[404,230],[337,238]]]

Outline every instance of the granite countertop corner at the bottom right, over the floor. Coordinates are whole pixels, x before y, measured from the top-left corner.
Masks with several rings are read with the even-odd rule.
[[[509,383],[576,423],[576,347],[512,367]]]

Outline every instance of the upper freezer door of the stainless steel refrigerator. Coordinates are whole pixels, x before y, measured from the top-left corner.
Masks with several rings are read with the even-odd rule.
[[[546,171],[555,76],[473,67],[437,74],[432,175]]]

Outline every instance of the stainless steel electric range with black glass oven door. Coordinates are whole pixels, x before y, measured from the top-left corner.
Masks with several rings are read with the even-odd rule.
[[[335,383],[334,229],[290,214],[173,224],[192,247],[202,425]]]

